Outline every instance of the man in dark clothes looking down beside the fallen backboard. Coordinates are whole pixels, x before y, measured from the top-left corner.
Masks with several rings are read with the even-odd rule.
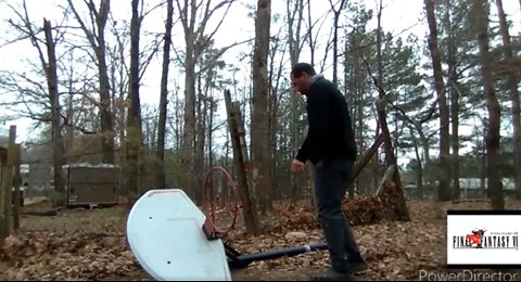
[[[307,102],[307,137],[291,164],[302,172],[314,165],[318,220],[329,245],[331,267],[313,280],[343,280],[364,271],[367,265],[342,213],[357,149],[345,98],[310,64],[298,63],[291,70],[292,86]]]

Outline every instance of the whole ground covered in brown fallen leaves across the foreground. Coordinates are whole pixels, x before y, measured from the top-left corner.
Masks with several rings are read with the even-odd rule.
[[[280,205],[266,217],[266,235],[244,235],[241,223],[227,242],[243,253],[322,242],[312,208]],[[283,207],[285,206],[285,207]],[[354,233],[369,269],[357,280],[418,280],[420,271],[448,273],[445,266],[445,218],[434,205],[409,202],[411,220],[355,226]],[[26,207],[27,209],[30,207]],[[490,208],[487,202],[447,203],[447,208]],[[521,208],[521,202],[507,202]],[[126,208],[61,210],[56,216],[23,216],[21,229],[0,244],[0,279],[5,280],[151,280],[129,251]],[[256,261],[234,270],[236,280],[308,280],[327,266],[327,252]],[[518,275],[521,279],[521,274]]]

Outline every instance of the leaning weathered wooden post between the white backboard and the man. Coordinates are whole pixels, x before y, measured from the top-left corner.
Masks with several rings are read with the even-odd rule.
[[[241,146],[241,134],[238,125],[238,113],[231,102],[231,94],[229,90],[225,91],[226,111],[228,116],[228,126],[231,134],[231,143],[233,146],[233,159],[238,170],[239,177],[239,195],[242,201],[242,209],[244,214],[244,223],[246,226],[246,232],[253,235],[260,234],[257,214],[255,211],[255,205],[252,204],[250,197],[249,183],[246,178],[246,169],[244,167],[243,146]]]

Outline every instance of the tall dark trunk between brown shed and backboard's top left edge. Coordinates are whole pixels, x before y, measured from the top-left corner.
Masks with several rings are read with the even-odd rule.
[[[130,77],[128,91],[128,100],[130,105],[127,114],[127,179],[128,190],[137,196],[140,193],[139,177],[139,154],[142,148],[142,129],[141,129],[141,103],[139,99],[139,0],[132,0],[132,18],[130,22]]]

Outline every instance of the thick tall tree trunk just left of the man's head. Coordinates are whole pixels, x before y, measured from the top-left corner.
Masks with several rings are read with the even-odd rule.
[[[259,211],[271,210],[271,163],[269,152],[269,81],[268,52],[271,0],[258,0],[255,18],[255,47],[253,53],[253,113],[252,113],[252,180],[257,194]]]

